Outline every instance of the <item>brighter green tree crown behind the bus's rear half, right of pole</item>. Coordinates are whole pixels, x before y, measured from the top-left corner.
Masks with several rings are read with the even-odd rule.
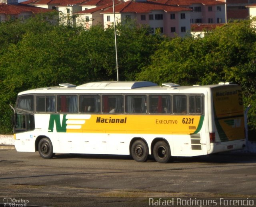
[[[206,33],[204,38],[162,41],[137,80],[181,85],[234,82],[242,86],[248,121],[256,131],[256,33],[251,21],[238,21]]]

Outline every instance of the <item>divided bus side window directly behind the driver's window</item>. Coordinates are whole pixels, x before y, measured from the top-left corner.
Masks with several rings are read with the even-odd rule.
[[[55,96],[36,96],[36,112],[55,112]]]

